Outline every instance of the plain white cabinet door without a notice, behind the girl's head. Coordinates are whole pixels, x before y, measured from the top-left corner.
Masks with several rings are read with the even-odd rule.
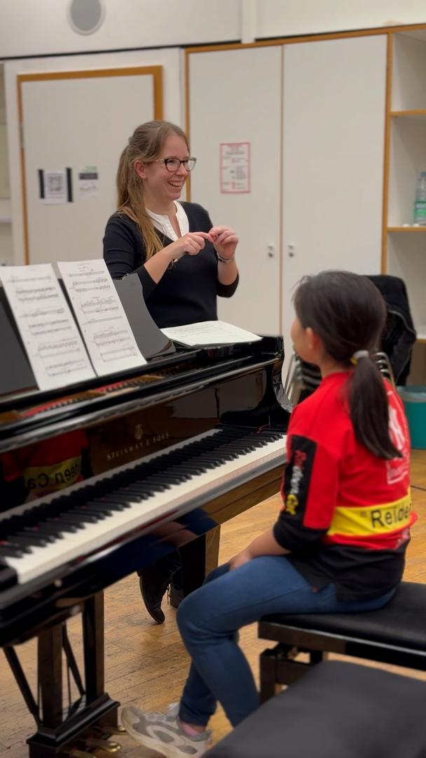
[[[287,356],[300,277],[378,274],[386,37],[285,45],[283,323]]]

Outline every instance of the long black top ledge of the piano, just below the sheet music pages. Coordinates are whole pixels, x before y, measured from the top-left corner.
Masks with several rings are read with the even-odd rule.
[[[152,406],[281,361],[281,337],[203,349],[177,349],[143,367],[41,391],[29,387],[0,398],[0,453],[107,416]]]

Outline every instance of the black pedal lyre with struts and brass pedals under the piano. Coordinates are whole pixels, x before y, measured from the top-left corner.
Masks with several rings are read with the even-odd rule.
[[[84,684],[67,637],[64,622],[40,632],[37,640],[37,691],[39,704],[13,647],[5,653],[30,713],[36,721],[36,734],[27,740],[30,758],[56,758],[67,750],[81,747],[90,729],[98,726],[108,733],[117,731],[117,708],[104,691],[104,597],[98,593],[82,606]],[[74,702],[64,703],[62,664],[79,691]]]

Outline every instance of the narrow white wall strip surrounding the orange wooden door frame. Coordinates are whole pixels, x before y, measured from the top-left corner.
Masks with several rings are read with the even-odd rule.
[[[5,92],[8,111],[9,180],[11,186],[11,218],[14,237],[14,262],[24,262],[23,210],[20,179],[20,138],[17,109],[17,74],[30,71],[84,70],[88,68],[124,66],[163,66],[164,117],[182,125],[182,52],[179,49],[145,50],[141,52],[72,55],[58,58],[29,58],[5,62]],[[113,105],[112,105],[113,107]],[[123,146],[124,147],[124,146]],[[119,156],[117,155],[117,163]]]

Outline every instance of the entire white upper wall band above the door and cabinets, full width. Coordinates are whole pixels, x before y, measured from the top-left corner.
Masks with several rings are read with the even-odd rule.
[[[93,34],[68,23],[70,0],[1,0],[0,58],[263,39],[426,23],[424,0],[103,0]]]

